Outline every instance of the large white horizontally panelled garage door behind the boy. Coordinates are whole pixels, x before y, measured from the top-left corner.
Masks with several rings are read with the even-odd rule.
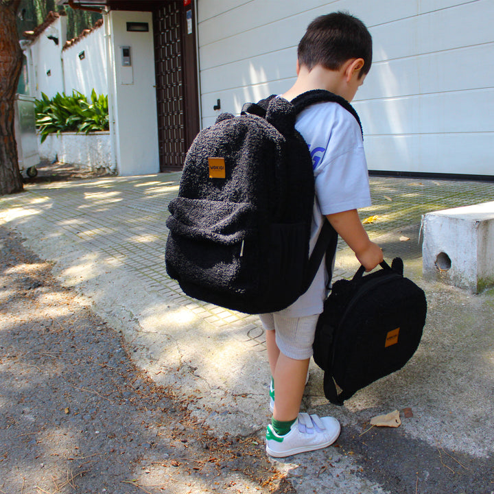
[[[369,169],[494,175],[492,0],[199,0],[202,125],[294,81],[296,45],[320,14],[369,27],[371,73],[354,105]]]

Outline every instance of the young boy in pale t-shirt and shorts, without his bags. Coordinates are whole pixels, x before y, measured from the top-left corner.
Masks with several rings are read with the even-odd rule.
[[[282,95],[291,101],[312,89],[326,89],[351,102],[371,69],[372,38],[355,17],[336,12],[320,16],[307,27],[298,45],[297,79]],[[296,121],[313,159],[316,198],[311,248],[327,217],[333,228],[370,271],[382,260],[371,242],[357,209],[371,204],[368,172],[360,126],[337,103],[305,108]],[[318,315],[327,285],[325,262],[298,300],[272,314],[262,314],[272,373],[274,410],[266,432],[266,451],[284,457],[327,447],[340,434],[333,417],[299,414]]]

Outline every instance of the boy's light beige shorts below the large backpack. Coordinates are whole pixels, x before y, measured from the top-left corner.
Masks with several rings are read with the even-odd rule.
[[[287,318],[278,312],[259,314],[266,331],[276,332],[276,342],[283,355],[294,360],[312,356],[312,344],[319,314],[301,318]]]

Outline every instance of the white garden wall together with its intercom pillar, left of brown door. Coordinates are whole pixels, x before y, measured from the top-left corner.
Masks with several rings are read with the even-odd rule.
[[[120,175],[153,174],[159,171],[156,89],[154,87],[154,47],[150,12],[111,11],[104,22],[62,51],[66,19],[60,17],[30,46],[37,75],[36,97],[41,91],[48,97],[75,89],[87,97],[93,88],[108,95],[110,107],[110,143]],[[149,32],[127,32],[128,21],[148,22]],[[107,60],[105,32],[112,36]],[[47,35],[58,33],[58,46]],[[121,66],[121,46],[130,46],[132,66]],[[84,59],[79,58],[84,51]],[[108,65],[115,66],[108,70]],[[62,66],[63,63],[63,66]],[[45,73],[51,69],[51,77]],[[108,78],[110,80],[108,80]],[[60,156],[59,156],[60,157]],[[110,167],[114,160],[110,159]]]

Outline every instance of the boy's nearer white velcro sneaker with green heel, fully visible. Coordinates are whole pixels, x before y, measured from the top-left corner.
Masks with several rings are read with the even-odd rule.
[[[279,436],[272,425],[266,430],[266,453],[284,458],[305,451],[314,451],[333,444],[340,435],[340,423],[333,417],[300,413],[290,432]]]

